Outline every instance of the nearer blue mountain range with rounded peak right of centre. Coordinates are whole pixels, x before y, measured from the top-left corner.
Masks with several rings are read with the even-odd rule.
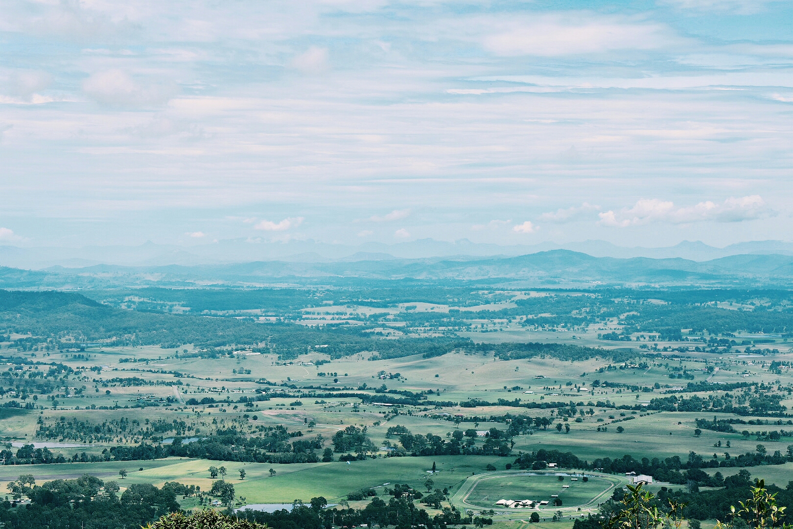
[[[289,260],[196,266],[102,264],[78,268],[52,266],[45,270],[0,268],[0,288],[4,289],[343,285],[394,280],[528,288],[788,288],[793,286],[793,255],[743,254],[698,262],[681,258],[596,257],[569,250],[514,257],[468,255],[423,259],[357,253],[336,260],[304,255]]]

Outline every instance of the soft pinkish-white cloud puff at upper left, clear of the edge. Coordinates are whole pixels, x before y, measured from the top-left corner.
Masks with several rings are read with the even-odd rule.
[[[155,79],[136,80],[123,70],[107,70],[86,79],[82,91],[102,105],[151,106],[167,102],[176,93],[176,87]]]

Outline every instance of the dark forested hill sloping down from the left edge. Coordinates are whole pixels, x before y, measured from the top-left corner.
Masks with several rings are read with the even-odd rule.
[[[64,336],[74,344],[108,345],[193,344],[209,354],[216,349],[251,347],[282,358],[297,358],[309,346],[323,344],[332,358],[368,352],[380,358],[408,355],[436,356],[470,345],[457,336],[377,339],[364,328],[307,328],[288,323],[257,323],[233,317],[172,315],[115,309],[79,293],[0,290],[0,334],[30,334],[17,340],[17,349],[63,347]],[[222,351],[219,351],[222,352]]]

